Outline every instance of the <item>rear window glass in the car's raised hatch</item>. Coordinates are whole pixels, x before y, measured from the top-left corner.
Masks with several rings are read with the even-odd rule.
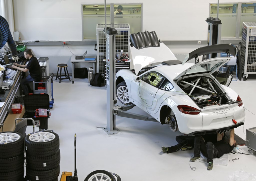
[[[202,61],[198,66],[188,70],[185,73],[185,75],[194,74],[194,73],[208,73],[214,70],[216,67],[219,67],[222,63],[223,63],[223,60],[214,60],[206,63]]]

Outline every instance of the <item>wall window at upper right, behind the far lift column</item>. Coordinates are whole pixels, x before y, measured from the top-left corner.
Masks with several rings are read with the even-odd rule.
[[[209,17],[217,17],[217,4],[210,3]],[[222,39],[241,39],[243,22],[255,22],[256,2],[219,3]]]

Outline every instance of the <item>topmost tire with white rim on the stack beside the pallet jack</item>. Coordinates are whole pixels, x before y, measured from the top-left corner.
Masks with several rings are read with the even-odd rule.
[[[39,139],[44,140],[44,142]],[[47,157],[56,154],[59,151],[59,135],[50,131],[37,131],[30,133],[25,138],[25,150],[29,155],[35,157]]]

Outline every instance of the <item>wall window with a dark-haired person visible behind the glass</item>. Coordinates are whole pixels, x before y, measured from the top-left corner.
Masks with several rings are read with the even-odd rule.
[[[122,14],[116,15],[120,5]],[[142,4],[106,4],[106,23],[129,23],[131,34],[142,31]],[[96,39],[97,24],[105,24],[105,5],[82,4],[82,24],[83,39]]]

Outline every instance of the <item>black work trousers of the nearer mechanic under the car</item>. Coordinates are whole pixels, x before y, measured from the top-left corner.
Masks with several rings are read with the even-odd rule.
[[[201,136],[195,136],[194,156],[200,157],[200,151],[207,158],[207,163],[213,163],[213,158],[218,155],[218,150],[212,142],[205,143]]]

